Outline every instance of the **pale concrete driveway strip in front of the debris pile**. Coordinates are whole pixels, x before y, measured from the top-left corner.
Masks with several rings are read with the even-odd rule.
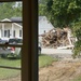
[[[71,57],[72,50],[42,49],[41,53],[56,57]]]

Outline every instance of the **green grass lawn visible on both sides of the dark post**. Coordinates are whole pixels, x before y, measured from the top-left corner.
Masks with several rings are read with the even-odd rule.
[[[57,58],[42,54],[39,56],[39,67],[49,66],[54,60],[57,60]],[[21,59],[0,58],[0,66],[21,67]],[[16,77],[19,73],[21,70],[0,68],[0,80]]]

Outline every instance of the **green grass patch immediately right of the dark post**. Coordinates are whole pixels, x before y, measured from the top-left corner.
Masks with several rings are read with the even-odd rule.
[[[58,60],[57,58],[54,58],[52,56],[42,54],[39,56],[39,68],[40,67],[45,67],[52,64],[52,62]]]

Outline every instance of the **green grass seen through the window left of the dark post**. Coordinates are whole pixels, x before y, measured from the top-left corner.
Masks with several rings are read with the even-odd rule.
[[[21,59],[0,58],[0,66],[21,67]],[[16,77],[21,70],[0,68],[0,79]]]

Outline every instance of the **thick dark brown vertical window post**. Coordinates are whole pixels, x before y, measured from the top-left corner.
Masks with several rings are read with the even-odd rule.
[[[11,1],[11,0],[0,0]],[[16,0],[12,0],[16,1]],[[22,1],[22,0],[17,0]],[[23,0],[22,81],[38,81],[38,1]],[[32,10],[31,10],[32,9]],[[32,37],[32,40],[31,40]],[[31,44],[32,43],[32,44]],[[0,44],[5,46],[5,44]],[[9,44],[6,44],[9,46]],[[18,46],[18,45],[16,45]],[[36,77],[35,77],[36,76]]]

